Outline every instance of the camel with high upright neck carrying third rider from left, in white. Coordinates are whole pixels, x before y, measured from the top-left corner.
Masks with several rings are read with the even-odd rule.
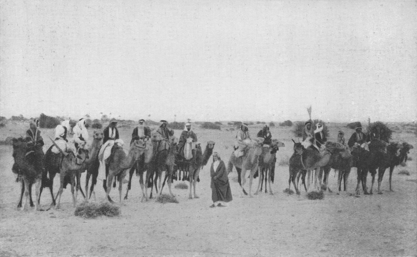
[[[85,201],[88,201],[88,199],[91,198],[91,195],[94,195],[94,200],[95,200],[94,185],[97,184],[98,167],[100,166],[100,162],[98,161],[98,153],[100,152],[100,147],[102,145],[103,138],[104,138],[103,131],[96,131],[96,130],[94,131],[93,143],[91,144],[91,148],[90,148],[91,156],[90,156],[89,161],[86,163],[87,173],[85,175]],[[90,194],[88,194],[88,182],[90,181],[90,177],[91,177],[91,186],[90,186]]]

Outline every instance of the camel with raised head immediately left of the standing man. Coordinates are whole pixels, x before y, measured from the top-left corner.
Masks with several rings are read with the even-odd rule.
[[[194,188],[194,198],[199,198],[196,195],[196,183],[198,175],[200,174],[201,168],[207,165],[208,159],[213,153],[213,148],[214,142],[208,141],[204,153],[201,153],[201,146],[199,143],[198,146],[192,151],[193,158],[191,158],[191,162],[188,166],[188,180],[190,181],[190,195],[188,196],[188,199],[193,199],[193,196],[191,194],[191,188]]]

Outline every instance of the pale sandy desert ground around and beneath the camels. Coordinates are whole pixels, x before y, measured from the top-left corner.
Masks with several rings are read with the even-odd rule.
[[[336,135],[340,128],[332,126],[331,133]],[[251,135],[259,129],[251,128]],[[343,129],[347,135],[352,133]],[[120,129],[125,142],[130,141],[131,130]],[[195,131],[203,146],[208,140],[215,141],[215,151],[227,162],[235,131]],[[18,125],[1,129],[4,137],[24,132]],[[290,128],[271,132],[286,144],[277,153],[278,162],[288,159],[293,151]],[[176,136],[180,133],[176,131]],[[53,131],[43,130],[43,135],[46,151],[51,143],[45,135],[52,136]],[[240,198],[234,171],[229,174],[233,201],[227,208],[208,208],[211,189],[206,166],[197,185],[199,199],[188,200],[188,190],[173,188],[178,204],[141,203],[138,178],[134,177],[128,200],[119,204],[121,216],[95,219],[74,216],[69,188],[63,192],[60,210],[18,210],[20,185],[11,172],[12,147],[0,146],[0,256],[416,256],[416,138],[405,132],[395,133],[393,138],[414,145],[412,161],[394,170],[394,192],[386,191],[386,173],[382,195],[352,196],[357,178],[352,168],[347,192],[326,192],[323,200],[308,200],[304,190],[300,196],[283,193],[288,187],[288,166],[277,166],[274,195]],[[401,169],[411,175],[399,175]],[[83,187],[84,179],[85,173]],[[331,171],[334,192],[336,181]],[[54,180],[54,192],[58,182],[59,176]],[[99,180],[96,190],[98,201],[104,199],[101,183]],[[245,188],[249,190],[248,183]],[[167,187],[163,193],[168,193]],[[118,199],[118,190],[112,189],[111,196]],[[78,202],[81,200],[79,195]],[[44,191],[41,205],[47,208],[50,202],[50,194]]]

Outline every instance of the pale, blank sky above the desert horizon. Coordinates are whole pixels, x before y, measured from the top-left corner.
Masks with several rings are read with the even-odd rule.
[[[415,121],[416,12],[415,1],[1,1],[0,115],[302,121],[311,105],[324,121]]]

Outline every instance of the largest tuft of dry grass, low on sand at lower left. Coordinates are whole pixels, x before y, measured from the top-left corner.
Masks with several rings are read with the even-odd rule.
[[[81,203],[75,208],[75,216],[94,218],[97,216],[114,217],[120,215],[120,207],[112,203]]]

